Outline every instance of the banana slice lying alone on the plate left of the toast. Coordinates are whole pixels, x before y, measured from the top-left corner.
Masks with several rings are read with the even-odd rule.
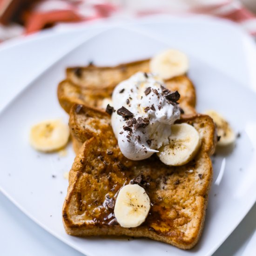
[[[68,125],[61,120],[42,121],[31,128],[30,144],[39,151],[50,152],[64,147],[68,137]]]

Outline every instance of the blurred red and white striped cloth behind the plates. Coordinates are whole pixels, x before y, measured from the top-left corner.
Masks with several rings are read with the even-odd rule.
[[[158,0],[154,3],[152,0],[41,0],[23,13],[24,28],[0,25],[0,41],[39,31],[48,24],[122,17],[123,13],[133,17],[154,13],[207,14],[232,20],[256,36],[256,16],[239,0]]]

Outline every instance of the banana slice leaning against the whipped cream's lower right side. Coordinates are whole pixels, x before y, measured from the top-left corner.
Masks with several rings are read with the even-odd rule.
[[[169,145],[162,146],[157,155],[167,165],[183,165],[195,157],[201,146],[200,135],[187,123],[174,124],[171,131]]]

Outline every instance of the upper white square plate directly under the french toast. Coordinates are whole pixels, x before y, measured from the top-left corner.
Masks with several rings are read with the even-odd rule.
[[[61,221],[67,180],[63,173],[74,160],[41,154],[28,143],[31,126],[41,120],[67,115],[59,106],[56,89],[65,67],[115,65],[148,58],[171,46],[132,30],[115,28],[82,43],[49,67],[0,114],[0,188],[35,222],[88,256],[113,255],[210,255],[236,228],[256,200],[256,94],[220,71],[189,55],[189,77],[195,83],[197,109],[216,109],[241,133],[230,155],[214,158],[214,180],[200,242],[189,251],[147,239],[79,238],[68,236]],[[214,49],[213,49],[214,50]],[[54,175],[54,177],[53,177]]]

